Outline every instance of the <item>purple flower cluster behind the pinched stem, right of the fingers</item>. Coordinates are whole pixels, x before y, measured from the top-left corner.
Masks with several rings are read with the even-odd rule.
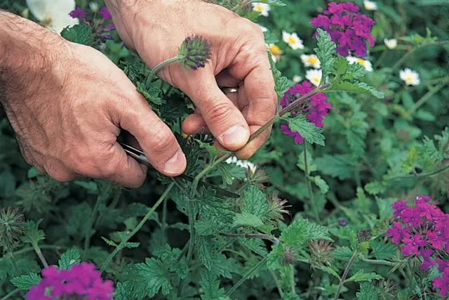
[[[301,96],[313,91],[315,88],[312,87],[310,81],[303,81],[302,84],[296,84],[293,88],[288,89],[281,99],[281,107],[285,108],[291,103],[298,100]],[[307,119],[316,127],[323,127],[323,120],[329,114],[329,110],[332,107],[328,101],[328,96],[324,93],[318,93],[315,96],[309,98],[307,103],[304,103],[302,107],[300,107],[299,113],[307,114]],[[292,113],[294,116],[295,113]],[[288,125],[281,125],[282,133],[287,136],[292,136],[295,138],[295,144],[304,143],[304,138],[300,135],[300,133],[296,131],[292,131]]]

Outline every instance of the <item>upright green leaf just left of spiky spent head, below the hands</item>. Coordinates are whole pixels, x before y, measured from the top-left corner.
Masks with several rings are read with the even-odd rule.
[[[252,214],[263,222],[267,219],[268,209],[267,196],[256,185],[246,188],[243,193],[242,214]]]

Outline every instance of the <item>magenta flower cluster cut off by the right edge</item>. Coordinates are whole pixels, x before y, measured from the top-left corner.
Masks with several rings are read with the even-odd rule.
[[[443,276],[434,278],[434,288],[446,296],[449,292],[449,261],[441,257],[449,254],[449,214],[444,214],[430,202],[428,196],[418,196],[413,207],[408,206],[406,200],[395,202],[391,208],[396,221],[393,228],[387,230],[387,237],[401,247],[404,256],[420,257],[421,270],[438,265]]]

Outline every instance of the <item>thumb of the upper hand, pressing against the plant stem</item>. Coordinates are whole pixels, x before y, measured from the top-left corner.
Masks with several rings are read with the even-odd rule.
[[[248,123],[238,107],[217,86],[211,70],[199,70],[195,76],[187,77],[180,89],[198,107],[208,129],[222,146],[235,151],[246,145],[250,137]]]

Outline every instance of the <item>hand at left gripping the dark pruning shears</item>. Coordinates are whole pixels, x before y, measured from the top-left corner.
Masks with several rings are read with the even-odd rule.
[[[125,129],[158,171],[167,176],[185,171],[185,155],[172,131],[119,67],[94,48],[22,23],[27,23],[23,36],[11,32],[22,48],[8,54],[15,63],[0,79],[6,81],[6,114],[29,164],[57,181],[86,176],[138,187],[147,168],[116,142]],[[25,33],[34,30],[39,40]],[[25,47],[28,56],[20,55]]]

